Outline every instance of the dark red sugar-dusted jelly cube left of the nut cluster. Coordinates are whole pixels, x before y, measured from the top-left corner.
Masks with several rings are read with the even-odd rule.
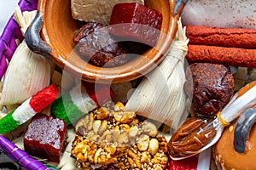
[[[26,129],[24,148],[31,156],[59,162],[67,145],[66,139],[66,122],[38,113]]]

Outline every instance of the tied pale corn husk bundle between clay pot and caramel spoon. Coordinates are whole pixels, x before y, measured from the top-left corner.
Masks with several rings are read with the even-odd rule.
[[[138,85],[125,105],[126,110],[137,111],[138,115],[163,122],[174,129],[181,117],[186,117],[183,116],[186,104],[183,64],[189,40],[184,32],[179,20],[177,36],[169,54],[154,71],[146,75],[147,78]]]

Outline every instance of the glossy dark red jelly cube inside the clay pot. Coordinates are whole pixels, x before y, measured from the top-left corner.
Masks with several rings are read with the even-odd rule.
[[[118,3],[113,7],[110,32],[118,37],[154,47],[160,34],[162,14],[140,3]]]

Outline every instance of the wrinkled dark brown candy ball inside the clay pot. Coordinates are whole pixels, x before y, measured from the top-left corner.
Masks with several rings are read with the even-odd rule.
[[[87,22],[74,32],[74,42],[79,53],[97,66],[113,67],[125,64],[129,57],[122,43],[109,34],[108,27],[96,22]]]

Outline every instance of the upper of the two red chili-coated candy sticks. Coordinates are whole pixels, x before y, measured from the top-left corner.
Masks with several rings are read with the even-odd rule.
[[[186,26],[190,44],[256,48],[256,29]]]

